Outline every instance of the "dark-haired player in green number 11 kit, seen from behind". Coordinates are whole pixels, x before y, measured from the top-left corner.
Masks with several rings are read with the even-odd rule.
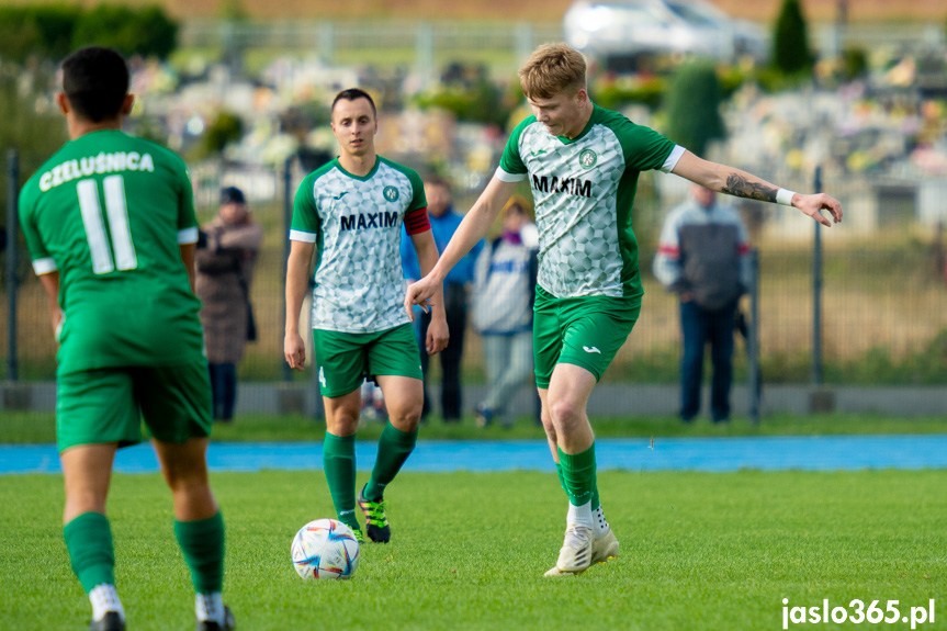
[[[88,47],[63,63],[70,140],[26,182],[20,223],[59,342],[56,440],[72,570],[93,631],[122,631],[105,517],[112,461],[142,418],[174,504],[199,631],[234,628],[221,599],[224,521],[207,483],[211,385],[194,295],[198,222],[184,162],[122,133],[128,68]],[[169,613],[170,615],[170,613]]]

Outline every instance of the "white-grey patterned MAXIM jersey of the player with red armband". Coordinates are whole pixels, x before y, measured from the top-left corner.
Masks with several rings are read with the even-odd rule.
[[[399,244],[408,213],[426,213],[418,174],[377,157],[364,178],[338,159],[300,184],[290,239],[314,243],[313,328],[377,333],[408,322]]]

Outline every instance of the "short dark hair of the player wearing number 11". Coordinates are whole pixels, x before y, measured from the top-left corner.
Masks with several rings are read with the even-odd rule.
[[[128,94],[128,66],[111,48],[79,48],[63,61],[63,92],[82,119],[114,119]]]

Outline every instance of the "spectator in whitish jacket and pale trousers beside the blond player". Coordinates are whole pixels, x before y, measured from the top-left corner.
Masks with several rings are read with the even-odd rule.
[[[478,427],[494,419],[509,427],[506,406],[532,378],[532,305],[539,234],[529,202],[519,195],[504,207],[503,234],[483,250],[474,269],[473,326],[483,336],[486,397],[474,408]],[[537,403],[539,397],[537,397]]]

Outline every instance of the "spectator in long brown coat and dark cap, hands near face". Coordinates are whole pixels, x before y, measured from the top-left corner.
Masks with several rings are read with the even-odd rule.
[[[250,305],[253,263],[263,229],[247,210],[243,191],[221,191],[221,209],[198,243],[198,297],[214,392],[214,418],[230,421],[237,398],[237,364],[257,339]]]

